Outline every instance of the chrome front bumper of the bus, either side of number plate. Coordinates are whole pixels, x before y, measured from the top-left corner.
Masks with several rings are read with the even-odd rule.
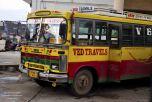
[[[23,68],[23,65],[19,65],[19,70],[22,73],[28,74],[28,69]],[[41,80],[46,80],[55,83],[67,83],[68,82],[68,75],[67,74],[53,74],[53,73],[44,73],[38,72],[38,78]]]

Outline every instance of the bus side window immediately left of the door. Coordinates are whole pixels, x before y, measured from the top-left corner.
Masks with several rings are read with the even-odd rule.
[[[107,23],[96,21],[95,22],[95,45],[105,45],[107,44]]]

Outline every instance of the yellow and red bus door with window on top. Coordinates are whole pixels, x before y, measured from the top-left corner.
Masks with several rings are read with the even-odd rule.
[[[120,32],[121,24],[109,23],[109,79],[110,81],[118,81],[120,79],[120,62],[121,62],[121,48],[120,48]]]

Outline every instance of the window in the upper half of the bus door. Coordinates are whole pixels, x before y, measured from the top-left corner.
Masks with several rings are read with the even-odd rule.
[[[109,33],[110,33],[110,46],[119,47],[119,32],[120,28],[118,25],[109,24]]]

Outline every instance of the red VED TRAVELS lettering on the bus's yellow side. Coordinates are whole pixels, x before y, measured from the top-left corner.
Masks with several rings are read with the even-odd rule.
[[[75,48],[73,49],[73,53],[75,56],[81,55],[107,55],[107,49],[82,49],[82,48]]]

